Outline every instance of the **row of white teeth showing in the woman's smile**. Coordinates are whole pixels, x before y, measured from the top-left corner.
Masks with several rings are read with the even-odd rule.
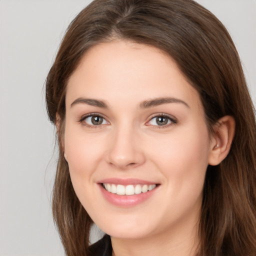
[[[115,185],[115,184],[109,184],[109,183],[103,183],[104,188],[113,194],[118,195],[132,195],[132,194],[140,194],[145,193],[147,191],[150,191],[156,187],[156,184],[150,184],[150,185]]]

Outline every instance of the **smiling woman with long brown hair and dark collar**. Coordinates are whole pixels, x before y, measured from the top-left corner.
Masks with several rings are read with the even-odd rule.
[[[67,255],[256,255],[256,125],[224,26],[192,0],[95,0],[46,79]],[[106,235],[89,246],[97,224]]]

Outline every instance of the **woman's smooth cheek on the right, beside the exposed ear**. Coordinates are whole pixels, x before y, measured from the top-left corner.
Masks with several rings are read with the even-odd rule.
[[[208,165],[209,137],[204,125],[179,129],[169,138],[155,143],[154,160],[170,184],[170,189],[201,191]],[[186,188],[185,188],[186,187]]]

